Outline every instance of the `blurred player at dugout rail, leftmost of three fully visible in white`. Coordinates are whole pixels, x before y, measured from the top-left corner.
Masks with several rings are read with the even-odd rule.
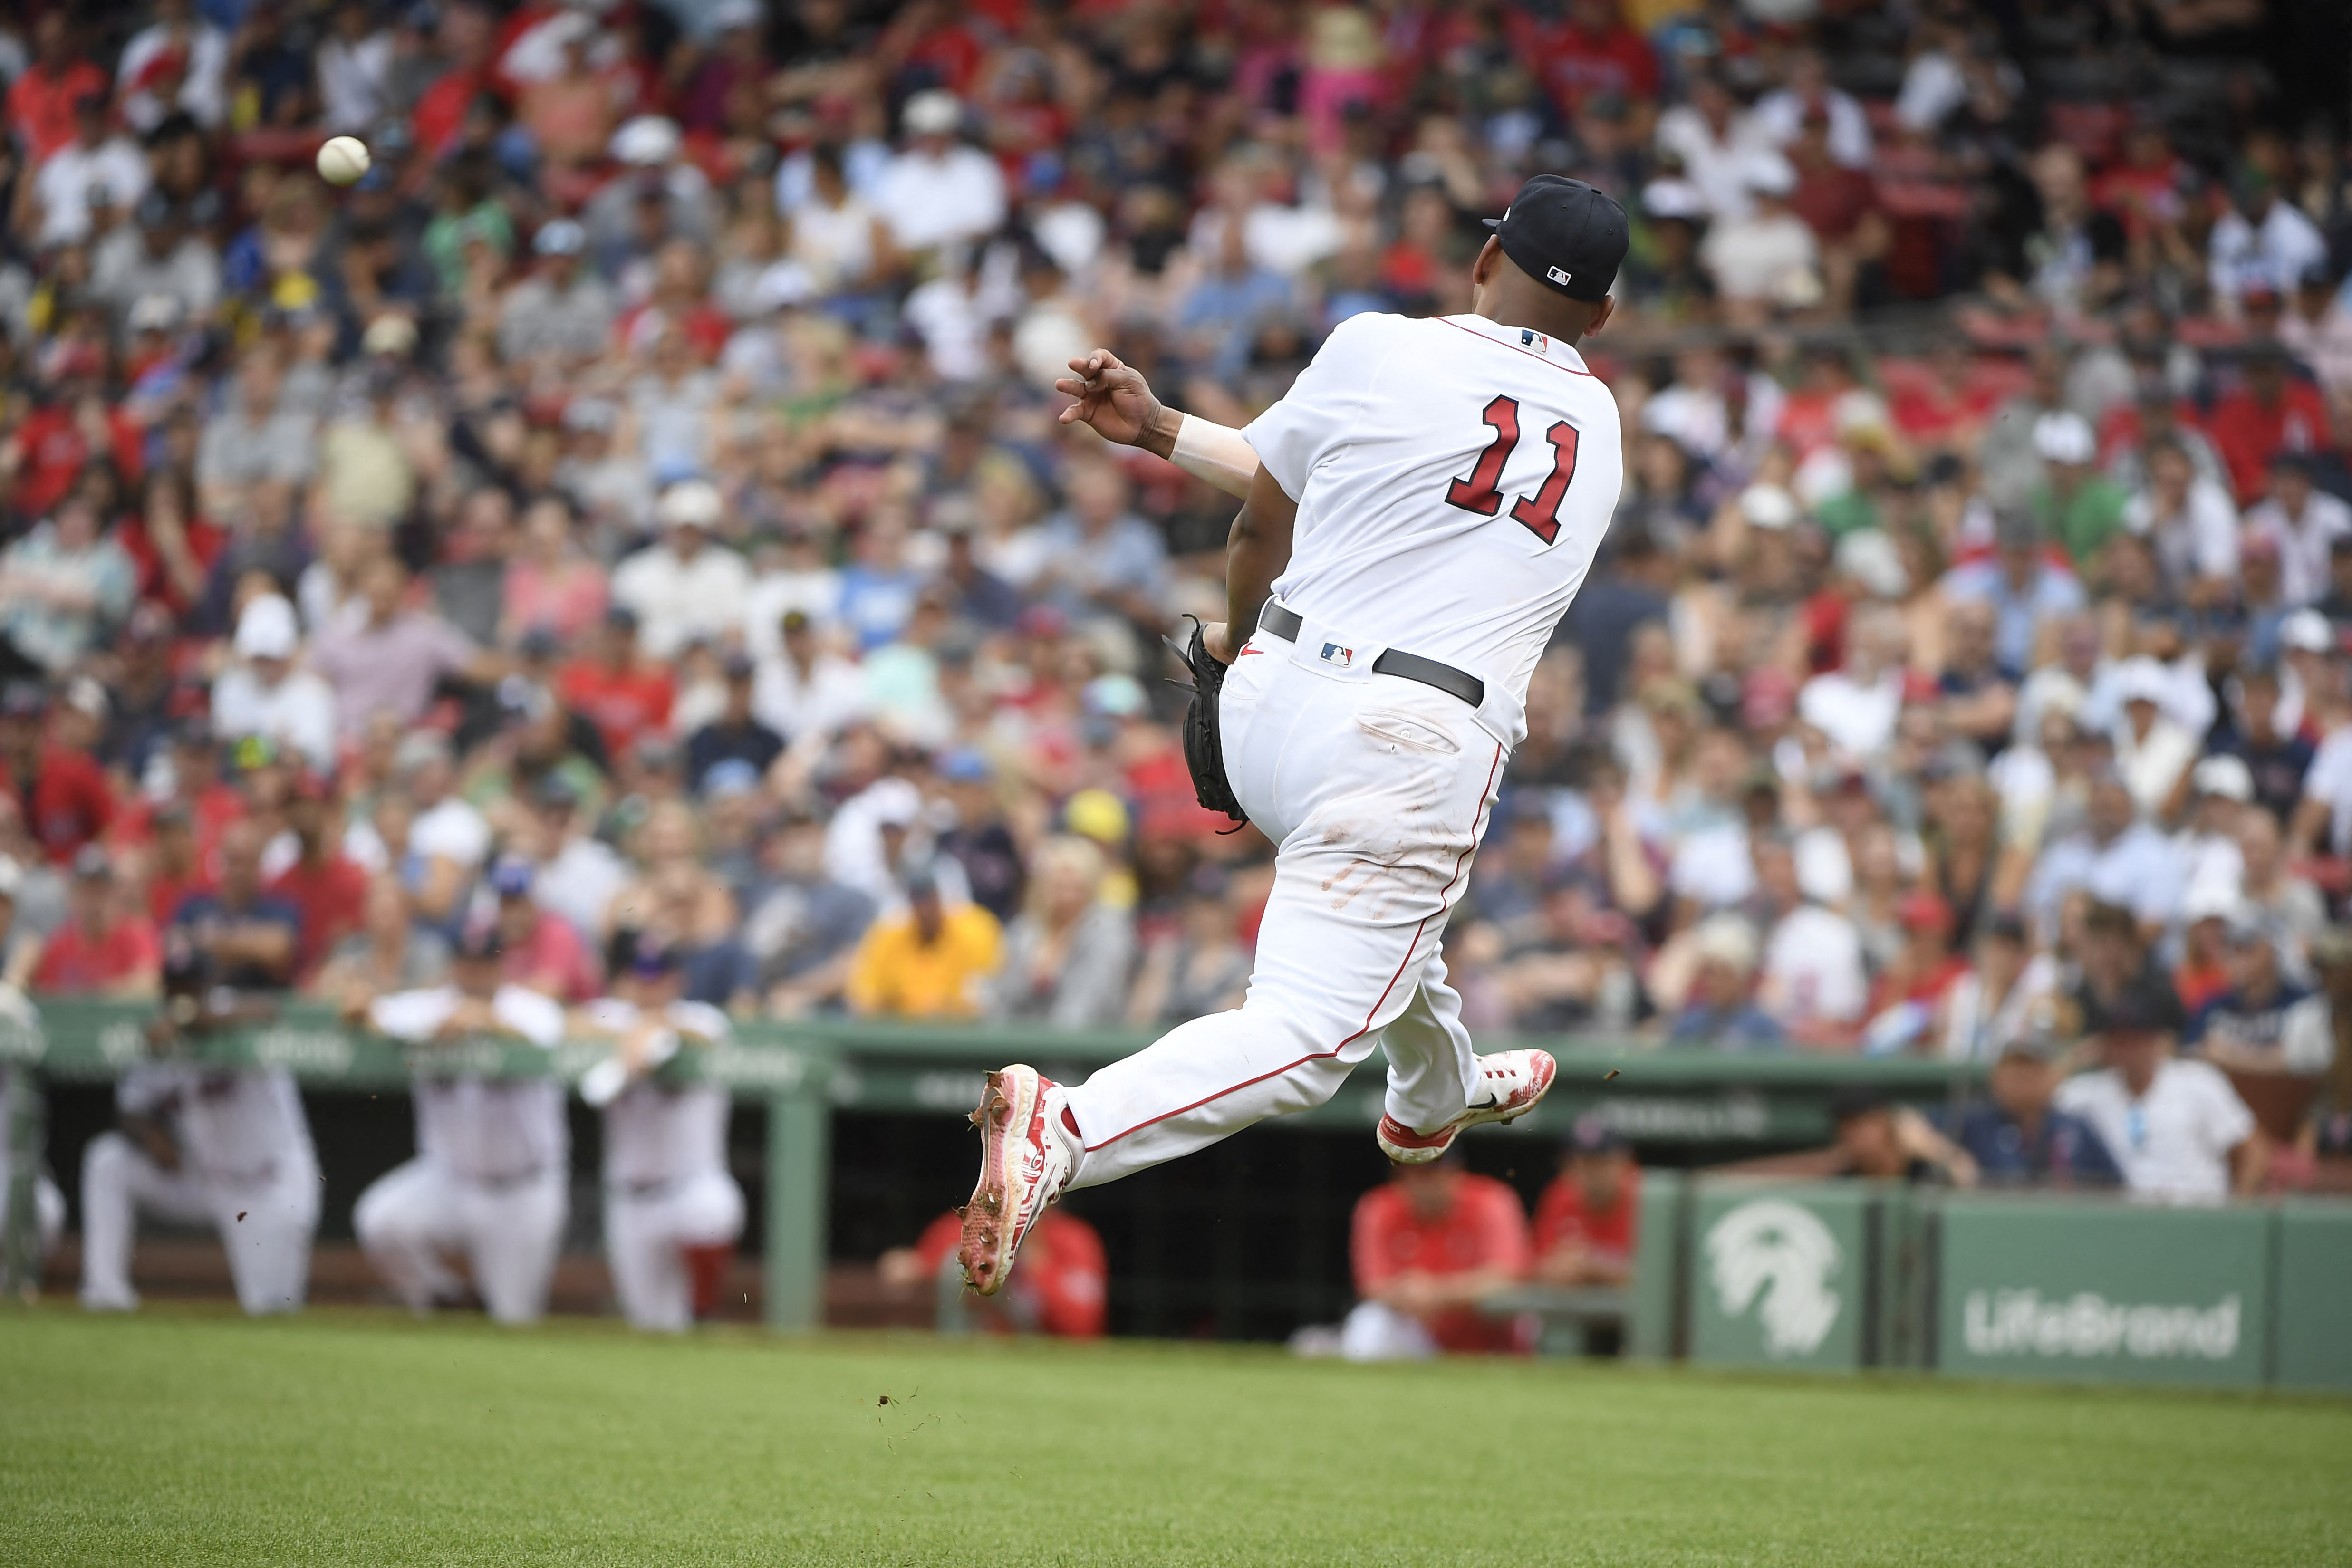
[[[148,1041],[169,1048],[254,1016],[212,987],[205,954],[165,954],[165,1009]],[[122,1126],[82,1150],[82,1307],[132,1312],[139,1215],[212,1222],[238,1305],[299,1312],[310,1291],[318,1154],[294,1077],[282,1067],[139,1063],[115,1084]]]

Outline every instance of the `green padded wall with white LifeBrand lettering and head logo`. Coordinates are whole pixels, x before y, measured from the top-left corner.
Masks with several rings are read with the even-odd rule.
[[[2352,1392],[2345,1201],[2180,1208],[1700,1175],[1658,1218],[1642,1291],[1675,1305],[1651,1312],[1665,1328],[1637,1331],[1646,1354]]]

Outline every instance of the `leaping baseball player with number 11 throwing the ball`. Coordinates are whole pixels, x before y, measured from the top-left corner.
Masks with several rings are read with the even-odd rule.
[[[1378,1044],[1390,1159],[1543,1098],[1543,1051],[1475,1056],[1439,957],[1526,731],[1526,682],[1618,501],[1618,409],[1576,343],[1609,320],[1625,214],[1526,181],[1470,268],[1470,315],[1355,315],[1247,430],[1160,407],[1108,353],[1063,423],[1242,491],[1228,618],[1197,628],[1185,755],[1202,804],[1275,844],[1247,1001],[1080,1086],[1014,1065],[981,1107],[957,1258],[988,1295],[1061,1192],[1331,1098]]]

